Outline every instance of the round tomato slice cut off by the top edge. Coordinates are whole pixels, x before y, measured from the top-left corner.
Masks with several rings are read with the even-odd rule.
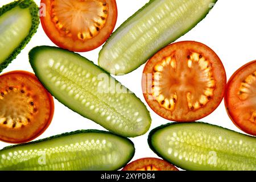
[[[40,12],[49,39],[75,52],[101,46],[117,22],[115,0],[42,0]]]

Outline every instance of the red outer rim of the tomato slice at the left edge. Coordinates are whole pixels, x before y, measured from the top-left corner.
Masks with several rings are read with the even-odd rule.
[[[44,126],[42,129],[38,130],[38,131],[34,131],[34,135],[30,138],[27,139],[23,139],[23,140],[18,140],[18,139],[5,139],[2,138],[2,136],[0,136],[0,140],[6,143],[26,143],[26,142],[30,142],[31,140],[34,140],[35,138],[39,137],[41,134],[44,133],[44,131],[46,131],[46,129],[48,128],[48,126],[51,124],[51,121],[53,119],[53,114],[54,114],[54,110],[55,110],[55,105],[54,105],[54,101],[53,101],[53,97],[52,95],[44,88],[44,86],[41,84],[41,82],[38,80],[38,78],[30,72],[27,71],[11,71],[11,72],[7,72],[7,73],[3,73],[0,77],[3,76],[12,76],[12,75],[19,75],[19,76],[24,76],[26,78],[29,78],[30,80],[32,80],[33,82],[36,82],[37,85],[42,86],[42,89],[45,90],[45,93],[47,95],[47,100],[49,102],[49,114],[48,114],[48,119],[47,122],[44,123]]]

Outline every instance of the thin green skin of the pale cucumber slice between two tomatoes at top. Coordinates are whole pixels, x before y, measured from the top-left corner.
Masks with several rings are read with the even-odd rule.
[[[158,1],[158,0],[150,0],[150,1],[149,1],[148,3],[146,3],[141,9],[139,9],[136,13],[134,13],[133,15],[131,15],[127,20],[125,20],[125,22],[123,22],[123,23],[121,24],[121,26],[119,26],[119,27],[117,28],[117,30],[115,30],[115,31],[112,33],[112,35],[109,37],[109,39],[108,39],[108,40],[106,41],[106,43],[103,45],[103,47],[102,47],[102,49],[101,49],[101,51],[100,51],[100,53],[99,53],[99,56],[98,56],[98,65],[100,65],[100,67],[101,67],[100,59],[101,59],[102,51],[104,51],[104,48],[105,48],[106,45],[108,45],[108,43],[111,41],[112,37],[115,36],[115,34],[117,34],[118,31],[119,31],[121,28],[123,28],[124,26],[126,26],[127,24],[129,24],[130,20],[133,19],[134,16],[136,16],[137,14],[139,14],[145,7],[147,7],[148,5],[150,5],[150,4],[151,4],[152,2],[154,2],[154,1]],[[218,0],[213,0],[213,1],[212,1],[213,5],[215,5],[215,4],[217,3],[217,1],[218,1]],[[176,38],[174,38],[174,39],[172,40],[172,42],[174,42],[175,40],[179,39],[181,36],[187,34],[187,32],[191,31],[198,23],[200,23],[200,22],[209,14],[209,12],[210,12],[210,10],[211,10],[212,8],[213,8],[213,6],[212,6],[212,7],[209,7],[209,11],[207,11],[203,16],[201,16],[201,18],[200,18],[196,23],[192,24],[191,27],[188,28],[188,30],[186,30],[186,31],[184,31],[184,32],[180,32],[180,35],[177,36]],[[170,43],[172,43],[172,42],[170,42]],[[168,46],[168,44],[170,44],[170,43],[163,44],[163,45],[162,45],[162,48]],[[161,49],[161,48],[160,48],[160,49]],[[118,73],[117,71],[115,71],[114,75],[126,75],[126,74],[128,74],[128,73],[130,73],[130,72],[133,72],[135,69],[141,67],[141,65],[143,65],[144,63],[146,63],[147,60],[150,59],[152,56],[154,56],[155,53],[158,52],[160,49],[155,50],[155,52],[152,52],[151,55],[145,57],[144,60],[142,61],[142,63],[141,63],[141,64],[138,64],[138,65],[135,65],[134,68],[127,69],[126,72],[124,72],[124,73]],[[133,64],[133,63],[131,63],[131,64]],[[109,72],[109,73],[110,73],[110,71],[109,71],[108,69],[106,69],[106,68],[104,68],[104,67],[102,67],[102,69],[104,69],[106,72]],[[112,68],[112,69],[114,69],[114,68]],[[112,74],[112,73],[111,73],[111,74]]]

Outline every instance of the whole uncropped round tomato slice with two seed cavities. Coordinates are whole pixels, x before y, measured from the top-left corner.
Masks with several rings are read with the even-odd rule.
[[[191,122],[220,105],[226,73],[212,49],[198,42],[177,42],[146,64],[142,88],[148,105],[161,117]]]

